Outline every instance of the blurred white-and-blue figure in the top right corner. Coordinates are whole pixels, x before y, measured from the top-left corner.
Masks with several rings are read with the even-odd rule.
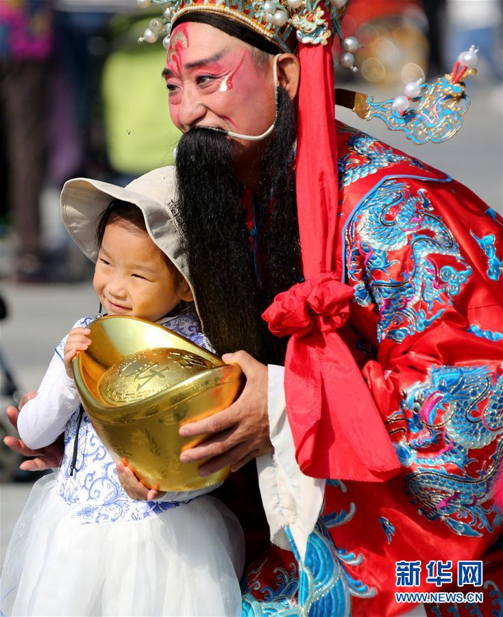
[[[493,80],[502,82],[502,8],[501,0],[447,0],[447,61],[454,62],[460,49],[475,45]]]

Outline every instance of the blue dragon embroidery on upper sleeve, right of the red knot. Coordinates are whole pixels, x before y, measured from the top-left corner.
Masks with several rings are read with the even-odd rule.
[[[434,214],[426,189],[390,178],[363,200],[346,230],[347,276],[355,301],[379,309],[378,341],[400,343],[453,304],[471,275],[458,244]],[[408,256],[402,269],[394,251]],[[435,256],[452,265],[437,265]]]

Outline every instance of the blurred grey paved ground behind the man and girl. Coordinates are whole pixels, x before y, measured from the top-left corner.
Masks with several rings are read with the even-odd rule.
[[[502,90],[474,90],[465,126],[444,145],[415,147],[401,134],[392,134],[380,125],[358,121],[351,112],[338,111],[339,119],[357,125],[406,152],[440,167],[478,193],[493,208],[503,212],[502,202]],[[376,100],[379,100],[376,95]],[[55,219],[58,204],[46,213]],[[56,217],[57,218],[57,217]],[[90,283],[79,285],[21,286],[5,282],[1,291],[8,302],[10,317],[1,324],[1,350],[23,391],[36,389],[54,346],[82,315],[93,315],[97,303]],[[10,401],[0,400],[1,413]],[[3,447],[3,446],[0,446]],[[3,484],[0,491],[0,548],[4,551],[29,486]]]

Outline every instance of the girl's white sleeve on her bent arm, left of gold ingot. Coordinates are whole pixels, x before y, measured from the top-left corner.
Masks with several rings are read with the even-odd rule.
[[[79,406],[79,395],[64,363],[54,354],[37,396],[29,400],[19,413],[19,436],[33,450],[49,446],[64,432],[66,422]]]

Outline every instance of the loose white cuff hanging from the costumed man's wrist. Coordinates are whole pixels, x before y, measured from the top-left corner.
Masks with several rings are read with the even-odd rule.
[[[271,532],[271,542],[291,550],[284,532],[289,527],[301,559],[315,527],[325,493],[325,480],[304,475],[295,460],[295,446],[286,415],[284,367],[269,365],[268,414],[273,454],[257,457],[258,485]]]

